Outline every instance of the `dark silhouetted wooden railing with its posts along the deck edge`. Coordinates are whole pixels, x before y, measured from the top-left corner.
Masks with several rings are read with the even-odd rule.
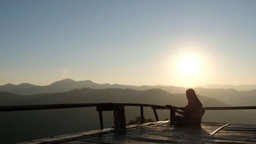
[[[78,107],[96,107],[101,129],[103,129],[102,111],[113,111],[114,113],[114,128],[125,129],[125,106],[139,106],[141,110],[141,123],[144,123],[143,107],[152,107],[156,121],[159,121],[156,110],[170,110],[170,119],[176,115],[176,109],[184,109],[184,107],[176,107],[171,105],[151,105],[151,104],[130,104],[130,103],[87,103],[87,104],[56,104],[56,105],[22,105],[22,106],[0,106],[0,112],[11,111],[31,111],[31,110],[50,110],[50,109],[71,109]],[[229,107],[204,107],[205,110],[251,110],[256,109],[256,106],[229,106]]]

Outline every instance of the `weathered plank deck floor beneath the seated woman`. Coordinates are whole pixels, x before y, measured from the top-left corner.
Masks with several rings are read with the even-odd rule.
[[[22,142],[22,144],[256,143],[256,125],[202,123],[201,127],[202,129],[177,128],[170,126],[168,121],[161,121],[130,125],[126,130],[95,130]]]

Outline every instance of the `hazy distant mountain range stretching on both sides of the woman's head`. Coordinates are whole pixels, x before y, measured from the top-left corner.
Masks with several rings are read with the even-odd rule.
[[[31,95],[40,93],[57,93],[68,92],[73,89],[92,88],[92,89],[106,89],[106,88],[121,88],[121,89],[135,89],[144,91],[147,89],[158,88],[166,92],[176,94],[185,93],[187,88],[174,87],[174,86],[129,86],[109,83],[98,84],[91,80],[74,81],[72,79],[64,79],[51,83],[48,86],[36,86],[30,83],[21,83],[20,85],[7,85],[0,86],[0,92],[10,92],[15,94]],[[215,98],[223,101],[226,104],[233,106],[248,106],[256,105],[256,89],[250,91],[237,91],[235,89],[212,89],[212,88],[194,88],[197,94],[203,95],[208,98]]]

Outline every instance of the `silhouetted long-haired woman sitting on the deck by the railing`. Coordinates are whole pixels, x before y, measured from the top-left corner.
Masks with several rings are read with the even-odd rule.
[[[201,127],[202,116],[205,113],[205,109],[202,107],[202,103],[197,98],[194,89],[188,89],[186,91],[188,105],[184,109],[176,110],[182,116],[176,116],[173,124],[184,127]],[[175,123],[176,122],[176,123]]]

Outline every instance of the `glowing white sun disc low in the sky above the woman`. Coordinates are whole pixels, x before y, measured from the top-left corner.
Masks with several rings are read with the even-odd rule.
[[[184,76],[195,76],[200,72],[200,60],[193,56],[182,57],[178,63],[179,70]]]

